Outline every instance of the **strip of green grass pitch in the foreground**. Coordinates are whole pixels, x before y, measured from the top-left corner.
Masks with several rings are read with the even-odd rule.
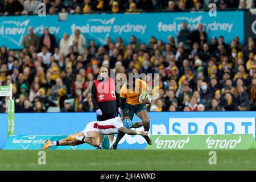
[[[49,150],[46,165],[36,150],[1,150],[0,170],[256,170],[256,150]]]

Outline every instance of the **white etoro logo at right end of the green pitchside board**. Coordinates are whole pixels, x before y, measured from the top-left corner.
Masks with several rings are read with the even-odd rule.
[[[241,143],[242,138],[241,135],[239,135],[238,139],[210,139],[209,136],[207,140],[205,140],[205,143],[207,143],[207,148],[234,148],[237,146],[238,143]]]

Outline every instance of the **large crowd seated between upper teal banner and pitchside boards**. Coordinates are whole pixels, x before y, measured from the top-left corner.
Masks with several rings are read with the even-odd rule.
[[[117,84],[121,73],[159,73],[150,111],[255,110],[255,41],[243,45],[234,37],[229,45],[223,36],[209,38],[209,44],[207,39],[201,23],[191,32],[183,22],[167,40],[152,36],[143,44],[131,36],[124,45],[120,37],[106,38],[101,47],[94,40],[87,45],[79,30],[56,43],[47,28],[39,37],[30,27],[21,51],[1,47],[0,85],[13,84],[16,112],[94,111],[90,89],[100,66],[107,65],[115,69]],[[6,101],[1,98],[1,112]]]

